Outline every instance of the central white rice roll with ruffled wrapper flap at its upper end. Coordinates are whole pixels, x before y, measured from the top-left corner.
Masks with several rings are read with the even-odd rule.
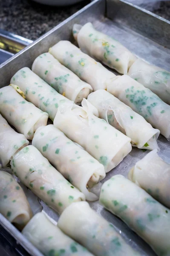
[[[97,109],[86,99],[82,106],[65,104],[58,108],[54,126],[81,145],[104,165],[105,172],[109,172],[132,150],[131,139],[98,118]]]

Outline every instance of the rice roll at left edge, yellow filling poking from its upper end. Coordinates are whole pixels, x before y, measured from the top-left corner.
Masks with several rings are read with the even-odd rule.
[[[49,117],[48,113],[27,102],[12,86],[0,89],[0,113],[29,140],[38,127],[47,124]]]

